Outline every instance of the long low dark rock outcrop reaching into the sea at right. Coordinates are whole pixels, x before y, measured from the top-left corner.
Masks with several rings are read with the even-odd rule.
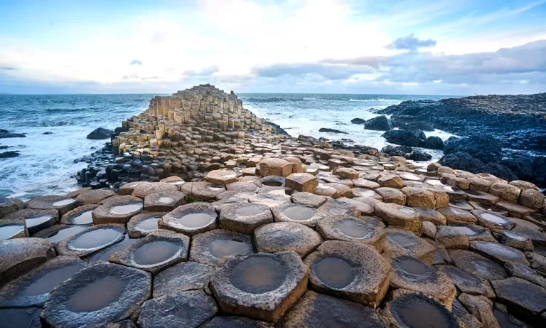
[[[462,136],[492,135],[508,151],[546,154],[546,93],[410,100],[375,112],[392,115],[395,127],[425,122]]]

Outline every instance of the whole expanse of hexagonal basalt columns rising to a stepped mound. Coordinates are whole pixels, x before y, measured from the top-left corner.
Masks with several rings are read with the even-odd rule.
[[[535,184],[279,128],[200,85],[123,122],[90,186],[0,199],[3,327],[546,324]]]

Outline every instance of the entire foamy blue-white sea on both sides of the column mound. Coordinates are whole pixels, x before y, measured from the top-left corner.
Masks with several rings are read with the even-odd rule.
[[[0,159],[0,197],[30,199],[65,194],[78,188],[74,175],[87,164],[75,163],[107,140],[85,137],[97,127],[114,129],[122,120],[145,110],[156,95],[0,95],[0,129],[26,133],[24,138],[0,139],[0,152],[18,151],[20,156]],[[405,100],[440,100],[437,95],[326,95],[240,94],[243,107],[280,125],[291,136],[304,134],[327,139],[348,138],[355,144],[381,149],[383,132],[365,130],[350,120],[368,120],[370,109],[397,105]],[[319,132],[321,127],[347,134]],[[51,134],[44,134],[51,132]],[[425,132],[447,139],[451,134]],[[433,159],[441,152],[426,150]]]

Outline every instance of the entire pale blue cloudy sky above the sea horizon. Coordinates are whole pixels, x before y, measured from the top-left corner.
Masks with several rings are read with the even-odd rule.
[[[546,0],[0,1],[0,93],[546,92]]]

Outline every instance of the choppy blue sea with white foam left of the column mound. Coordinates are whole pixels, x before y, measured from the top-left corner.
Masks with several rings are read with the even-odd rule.
[[[73,162],[109,140],[85,137],[97,127],[114,129],[137,115],[155,95],[0,95],[0,129],[26,133],[0,139],[19,157],[0,159],[0,197],[29,199],[77,189]],[[43,134],[53,132],[53,134]]]

